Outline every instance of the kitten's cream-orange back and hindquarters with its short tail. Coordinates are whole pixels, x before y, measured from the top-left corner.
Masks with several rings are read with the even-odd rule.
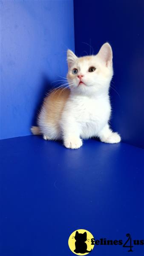
[[[46,140],[57,140],[61,138],[59,124],[69,94],[70,90],[68,88],[60,88],[53,90],[46,96],[38,115],[38,127],[33,126],[31,128],[34,135],[43,134]]]

